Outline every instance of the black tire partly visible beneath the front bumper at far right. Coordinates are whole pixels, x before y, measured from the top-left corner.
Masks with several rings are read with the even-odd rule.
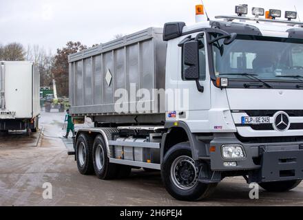
[[[290,180],[290,181],[273,181],[268,183],[259,184],[264,190],[268,192],[286,192],[296,188],[302,180]]]

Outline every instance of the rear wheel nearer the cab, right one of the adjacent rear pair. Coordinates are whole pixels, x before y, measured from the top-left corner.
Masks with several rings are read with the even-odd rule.
[[[118,164],[109,163],[107,148],[101,135],[96,136],[92,151],[94,171],[99,179],[114,179],[118,175]]]

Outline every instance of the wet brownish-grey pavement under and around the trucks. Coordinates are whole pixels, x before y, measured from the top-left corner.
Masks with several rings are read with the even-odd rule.
[[[167,194],[158,172],[133,170],[111,181],[83,176],[67,156],[63,120],[64,113],[42,113],[40,138],[0,137],[0,206],[303,206],[303,184],[282,193],[260,189],[260,199],[251,200],[242,177],[227,178],[210,199],[184,202]],[[43,199],[45,183],[52,184],[52,199]]]

